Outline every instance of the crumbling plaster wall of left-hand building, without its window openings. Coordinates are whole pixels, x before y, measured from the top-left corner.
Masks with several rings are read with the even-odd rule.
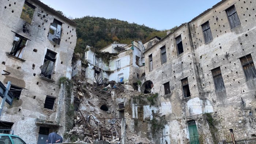
[[[27,143],[29,141],[36,143],[39,126],[35,125],[35,122],[37,120],[55,122],[57,99],[54,110],[44,109],[46,95],[57,98],[59,95],[59,78],[63,76],[71,78],[71,59],[76,43],[76,31],[74,23],[48,11],[48,8],[42,6],[38,1],[28,1],[36,8],[32,23],[25,22],[20,18],[24,2],[25,0],[0,1],[0,33],[4,34],[0,36],[2,46],[0,57],[1,62],[5,62],[5,65],[0,65],[0,69],[10,72],[10,75],[0,75],[0,80],[3,83],[11,81],[12,84],[25,88],[19,101],[15,100],[11,107],[5,104],[1,120],[14,122],[12,129],[15,134],[21,136]],[[6,8],[4,8],[5,6]],[[60,45],[48,40],[49,27],[53,19],[63,22]],[[27,27],[25,33],[23,32],[24,24]],[[15,33],[29,39],[22,57],[25,61],[7,55],[11,51]],[[34,49],[37,49],[37,52],[34,52]],[[46,49],[57,53],[53,72],[54,82],[48,82],[39,77],[41,73],[39,67],[43,64]],[[32,69],[33,64],[35,65],[34,69]],[[18,108],[21,109],[19,112]],[[27,125],[26,128],[24,125]]]

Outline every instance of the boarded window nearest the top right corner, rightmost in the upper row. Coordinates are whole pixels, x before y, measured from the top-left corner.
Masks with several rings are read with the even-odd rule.
[[[229,19],[230,29],[233,29],[241,24],[237,15],[235,5],[228,8],[226,10],[226,13],[227,13],[227,19]]]

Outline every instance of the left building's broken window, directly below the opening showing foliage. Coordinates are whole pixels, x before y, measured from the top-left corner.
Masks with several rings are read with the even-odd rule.
[[[27,38],[24,38],[16,34],[14,37],[14,41],[12,43],[12,49],[10,54],[15,57],[22,58],[22,55],[26,47],[26,43],[27,43]]]

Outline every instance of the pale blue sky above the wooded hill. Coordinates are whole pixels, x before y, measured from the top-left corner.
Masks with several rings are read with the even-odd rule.
[[[171,29],[201,14],[221,0],[41,0],[66,16],[98,16]]]

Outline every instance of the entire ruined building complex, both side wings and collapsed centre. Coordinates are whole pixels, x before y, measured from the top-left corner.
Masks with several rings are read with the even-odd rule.
[[[29,23],[16,17],[24,1],[11,3],[0,2],[0,80],[19,97],[1,123],[25,141],[58,130],[70,142],[255,143],[255,1],[222,0],[165,38],[73,57],[73,22],[34,0]]]

